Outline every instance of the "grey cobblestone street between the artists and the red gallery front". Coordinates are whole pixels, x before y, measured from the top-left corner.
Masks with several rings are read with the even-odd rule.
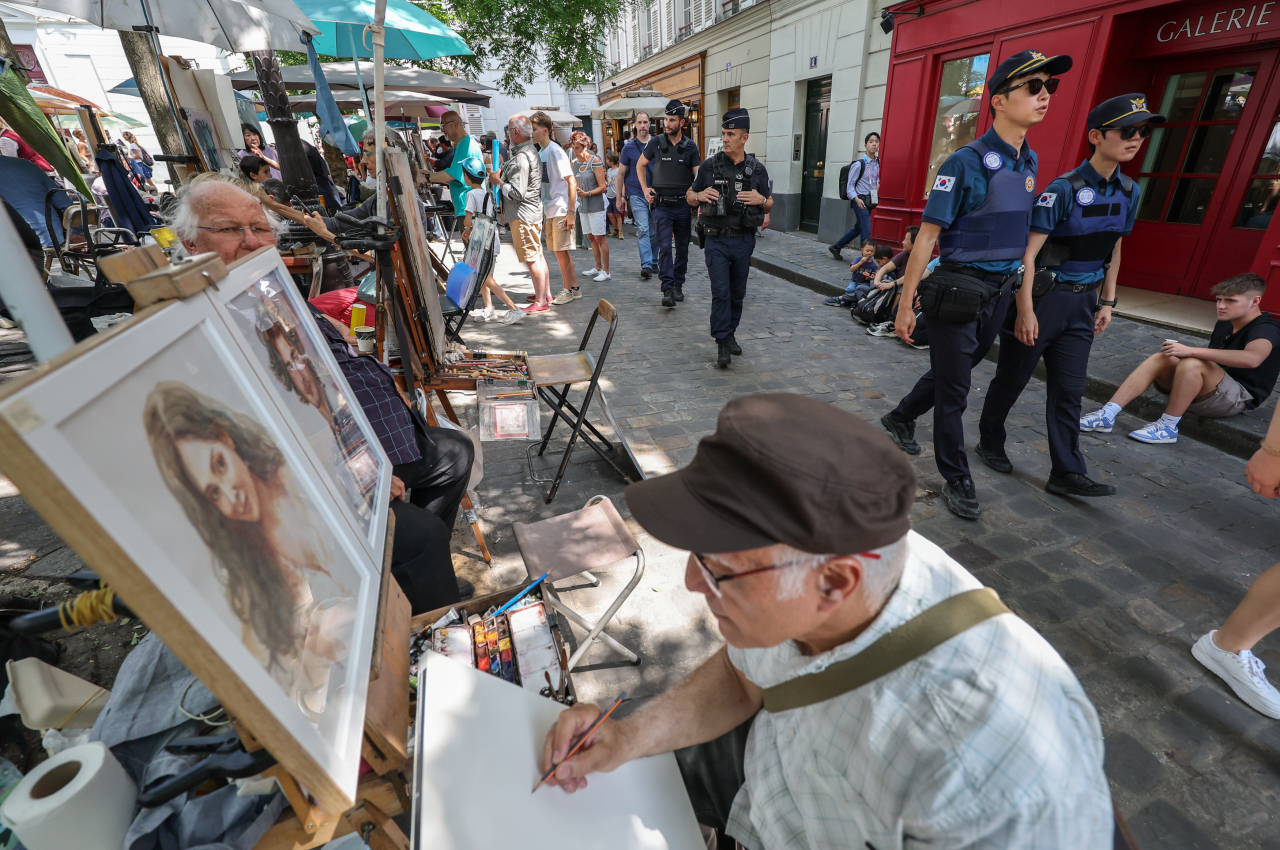
[[[637,275],[630,229],[626,239],[609,245],[612,282],[588,282],[581,300],[513,326],[468,323],[465,335],[477,347],[572,351],[595,301],[608,298],[620,325],[603,385],[649,472],[686,463],[733,396],[804,393],[877,421],[927,369],[928,352],[869,337],[847,311],[753,269],[737,334],[744,356],[719,370],[698,248],[690,250],[687,300],[663,310],[657,279]],[[573,253],[579,271],[590,257]],[[522,302],[531,292],[527,273],[507,247],[499,264],[499,283]],[[554,259],[550,265],[558,292]],[[993,371],[984,362],[974,376],[970,447]],[[470,407],[466,396],[456,402],[460,411]],[[1272,817],[1280,801],[1280,725],[1236,700],[1190,655],[1194,639],[1220,625],[1252,579],[1280,561],[1276,506],[1248,489],[1238,457],[1187,438],[1176,445],[1129,440],[1124,433],[1139,420],[1128,415],[1114,434],[1084,438],[1094,477],[1114,483],[1119,495],[1092,502],[1048,495],[1043,403],[1043,384],[1032,381],[1010,417],[1012,475],[993,474],[970,457],[983,507],[977,522],[954,517],[937,494],[942,481],[928,445],[929,422],[922,420],[918,437],[925,451],[915,458],[914,527],[1000,591],[1075,670],[1102,718],[1115,801],[1139,846],[1280,847],[1280,821]],[[622,481],[590,451],[575,451],[567,483],[550,506],[530,480],[524,452],[524,444],[486,444],[480,497],[493,529],[495,570],[485,575],[474,557],[458,558],[460,568],[484,584],[522,577],[506,527],[512,520],[563,513],[594,493],[611,495],[626,515]],[[470,535],[457,539],[474,550]],[[593,649],[577,673],[588,698],[607,699],[605,691],[618,684],[634,695],[658,693],[717,645],[705,607],[680,586],[684,554],[641,539],[649,572],[612,631],[637,645],[645,663],[632,668]],[[616,567],[607,585],[627,575]],[[1280,640],[1270,638],[1257,652],[1280,670]]]

